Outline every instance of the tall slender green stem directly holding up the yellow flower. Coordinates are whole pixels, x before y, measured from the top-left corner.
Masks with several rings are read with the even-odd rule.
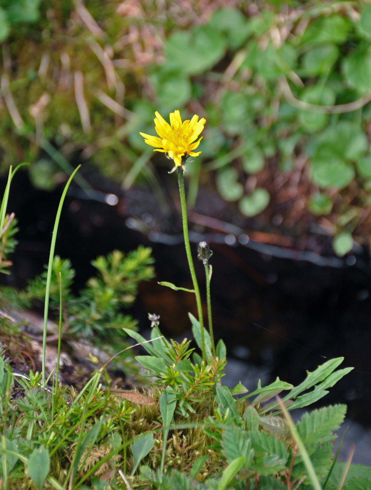
[[[193,266],[191,247],[189,245],[188,237],[188,221],[187,221],[187,205],[186,205],[186,193],[184,190],[184,171],[182,167],[178,167],[178,184],[179,184],[179,194],[180,202],[182,206],[182,220],[183,220],[183,234],[184,234],[184,244],[186,245],[186,254],[188,259],[188,266],[192,277],[194,294],[196,295],[198,320],[201,327],[201,342],[202,342],[202,360],[205,361],[205,334],[204,334],[204,318],[202,316],[202,303],[200,289],[198,287],[196,272]]]

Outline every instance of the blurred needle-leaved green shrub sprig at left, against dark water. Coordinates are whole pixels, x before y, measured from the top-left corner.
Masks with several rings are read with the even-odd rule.
[[[116,343],[123,338],[122,327],[137,325],[130,315],[120,313],[121,308],[133,304],[138,293],[138,284],[154,276],[154,259],[151,248],[139,246],[125,255],[114,250],[107,257],[97,257],[92,264],[97,274],[91,277],[86,287],[76,296],[71,287],[75,271],[69,259],[55,256],[50,284],[50,307],[59,311],[60,287],[62,287],[62,318],[64,335],[93,337],[95,342]],[[44,271],[28,284],[20,299],[29,305],[44,300],[46,290]]]

